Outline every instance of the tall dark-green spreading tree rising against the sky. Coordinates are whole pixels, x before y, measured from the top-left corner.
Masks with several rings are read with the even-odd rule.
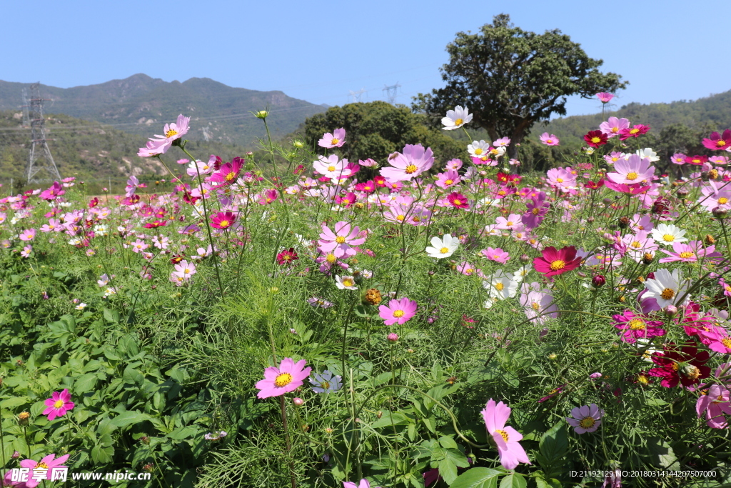
[[[447,52],[450,62],[440,69],[447,86],[414,97],[413,109],[439,121],[455,105],[467,107],[493,140],[512,140],[511,157],[533,124],[566,114],[567,96],[594,97],[627,84],[620,75],[600,72],[603,61],[588,57],[558,29],[526,32],[506,14],[478,34],[459,32]]]

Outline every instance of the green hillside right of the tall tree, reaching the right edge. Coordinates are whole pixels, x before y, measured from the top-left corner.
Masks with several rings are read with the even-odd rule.
[[[681,124],[694,131],[728,129],[731,127],[731,91],[690,101],[650,104],[633,102],[605,115],[610,116],[624,117],[632,124],[649,125],[651,132],[655,134],[674,124]],[[597,129],[601,123],[601,113],[562,117],[545,125],[536,124],[531,130],[531,139],[538,140],[542,132],[550,132],[558,136],[561,145],[566,143],[578,146],[583,144],[586,132]]]

